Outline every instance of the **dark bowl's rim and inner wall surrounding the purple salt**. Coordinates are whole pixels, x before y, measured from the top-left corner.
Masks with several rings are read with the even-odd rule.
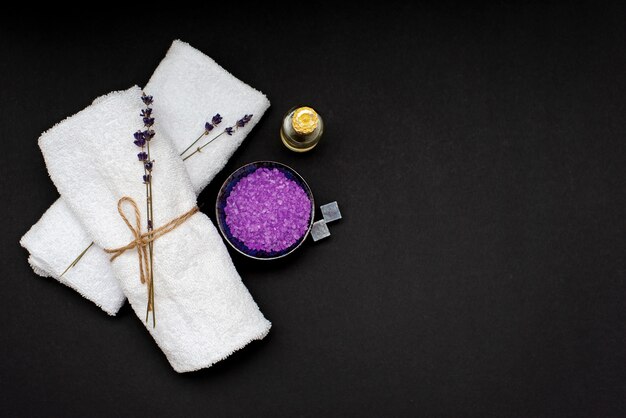
[[[230,232],[228,224],[226,223],[226,213],[224,211],[224,208],[226,207],[226,199],[228,199],[228,196],[230,196],[230,192],[232,191],[233,187],[235,187],[235,185],[239,182],[239,180],[246,177],[248,174],[253,173],[259,168],[276,168],[280,170],[285,175],[285,177],[287,177],[289,180],[293,180],[294,182],[296,182],[304,190],[309,200],[311,201],[311,215],[310,219],[308,220],[309,226],[306,232],[291,246],[280,251],[267,252],[248,248],[242,241],[233,236],[233,234]],[[255,161],[253,163],[246,164],[243,167],[238,168],[237,170],[235,170],[234,173],[228,176],[228,178],[220,188],[219,193],[217,194],[215,213],[217,216],[217,226],[219,227],[222,236],[224,237],[226,242],[228,242],[235,250],[239,251],[245,256],[257,260],[274,260],[292,253],[304,242],[306,237],[309,235],[309,232],[311,232],[311,226],[313,225],[313,219],[315,217],[315,203],[313,200],[313,193],[311,192],[311,188],[306,183],[306,181],[304,181],[302,176],[300,176],[300,174],[298,174],[293,168],[286,166],[285,164],[277,163],[275,161]]]

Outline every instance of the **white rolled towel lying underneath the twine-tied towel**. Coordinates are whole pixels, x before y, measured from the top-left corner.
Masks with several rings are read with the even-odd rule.
[[[261,92],[181,41],[173,42],[145,90],[155,97],[153,108],[159,132],[170,138],[179,153],[202,133],[204,123],[214,114],[220,113],[223,117],[222,123],[213,131],[216,134],[244,114],[253,114],[243,129],[232,136],[222,135],[201,153],[185,161],[196,193],[200,193],[224,167],[269,107],[269,101]],[[100,100],[103,99],[96,99],[94,104]],[[211,137],[204,137],[198,145]],[[80,262],[62,275],[91,241],[79,219],[59,199],[20,243],[29,251],[29,263],[37,274],[59,280],[108,314],[115,315],[125,296],[111,270],[109,257],[102,249],[91,247]]]

